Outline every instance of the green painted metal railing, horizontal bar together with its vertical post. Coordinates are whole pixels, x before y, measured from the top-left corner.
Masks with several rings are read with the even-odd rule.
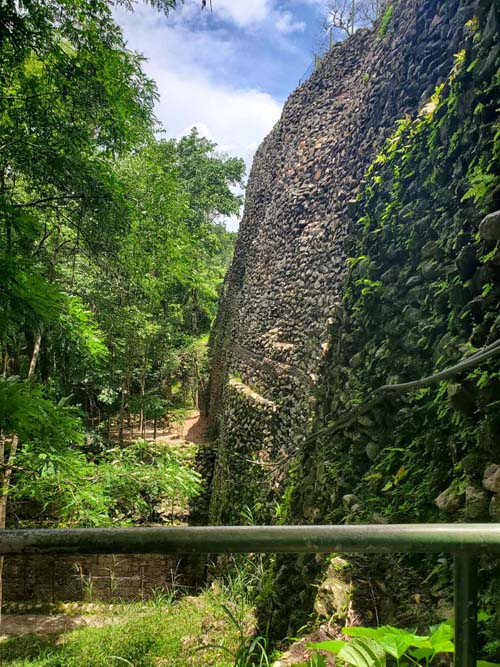
[[[0,530],[0,555],[99,553],[449,553],[454,556],[455,667],[474,667],[477,564],[500,555],[500,524],[210,526]]]

